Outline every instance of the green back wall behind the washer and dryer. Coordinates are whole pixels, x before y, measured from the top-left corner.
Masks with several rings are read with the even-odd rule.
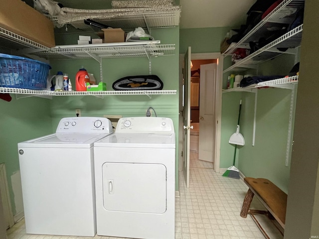
[[[55,97],[51,102],[52,129],[55,129],[62,117],[75,116],[75,109],[81,109],[82,116],[120,115],[123,117],[142,117],[146,110],[153,107],[158,117],[168,117],[173,120],[176,142],[178,142],[178,49],[179,28],[152,29],[151,35],[160,40],[161,44],[175,44],[175,55],[152,58],[152,74],[158,75],[163,82],[163,90],[177,90],[176,95],[148,96],[104,96],[104,99],[94,96]],[[74,39],[71,34],[66,41]],[[69,43],[70,44],[70,43]],[[75,75],[81,66],[93,73],[100,82],[99,63],[94,59],[52,60],[52,74],[57,71],[68,73],[75,89]],[[149,74],[149,60],[147,57],[104,58],[102,60],[103,82],[107,90],[113,90],[112,84],[116,80],[134,75]],[[178,189],[178,144],[176,144],[176,189]],[[152,155],[150,155],[152,156]]]

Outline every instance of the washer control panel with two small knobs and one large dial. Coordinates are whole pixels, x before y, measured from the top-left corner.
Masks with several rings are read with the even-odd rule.
[[[56,133],[112,133],[110,119],[103,117],[69,117],[62,118]]]

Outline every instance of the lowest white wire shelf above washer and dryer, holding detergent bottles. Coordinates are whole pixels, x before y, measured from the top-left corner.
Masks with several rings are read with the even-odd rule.
[[[132,91],[41,91],[19,88],[0,87],[0,93],[12,93],[24,95],[24,97],[38,96],[124,96],[124,95],[146,95],[150,99],[152,95],[176,95],[176,90],[132,90]],[[19,96],[19,98],[23,98]]]

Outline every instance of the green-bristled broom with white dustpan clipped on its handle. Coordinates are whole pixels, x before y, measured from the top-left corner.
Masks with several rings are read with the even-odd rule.
[[[245,145],[245,139],[243,135],[241,135],[241,133],[239,132],[240,111],[241,111],[241,100],[239,103],[239,115],[238,115],[238,123],[237,123],[236,132],[233,133],[229,139],[229,143],[235,144],[233,166],[227,168],[227,170],[222,175],[224,177],[235,178],[235,179],[240,179],[239,170],[235,167],[237,145]]]

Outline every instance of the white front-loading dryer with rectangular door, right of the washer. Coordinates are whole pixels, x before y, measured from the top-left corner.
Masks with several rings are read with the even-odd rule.
[[[94,143],[97,235],[175,236],[175,133],[168,118],[122,118]]]

